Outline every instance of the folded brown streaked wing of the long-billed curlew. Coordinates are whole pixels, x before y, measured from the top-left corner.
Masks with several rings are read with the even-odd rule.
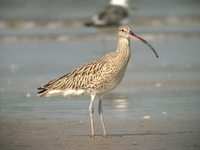
[[[106,80],[108,65],[105,61],[91,61],[76,70],[43,84],[39,90],[86,89]],[[92,88],[92,87],[91,87]]]

